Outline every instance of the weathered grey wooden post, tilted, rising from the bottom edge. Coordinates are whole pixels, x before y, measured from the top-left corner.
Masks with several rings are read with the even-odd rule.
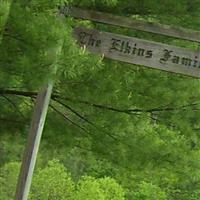
[[[28,199],[42,131],[51,98],[52,88],[53,84],[48,84],[39,92],[36,99],[35,111],[31,122],[27,146],[24,152],[15,200]]]

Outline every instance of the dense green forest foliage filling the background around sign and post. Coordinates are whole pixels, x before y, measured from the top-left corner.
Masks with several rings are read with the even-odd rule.
[[[200,30],[199,0],[0,0],[0,200],[14,197],[35,98],[49,80],[29,199],[199,200],[199,80],[94,55],[72,32],[199,44],[61,19],[63,5]]]

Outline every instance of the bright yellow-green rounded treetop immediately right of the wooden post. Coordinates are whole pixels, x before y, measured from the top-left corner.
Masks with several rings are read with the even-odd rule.
[[[71,200],[73,193],[74,183],[64,166],[51,161],[34,177],[30,199]]]

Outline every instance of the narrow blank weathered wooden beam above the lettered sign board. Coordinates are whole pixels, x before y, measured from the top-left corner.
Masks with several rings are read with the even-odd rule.
[[[97,12],[93,10],[82,10],[76,7],[62,7],[60,11],[66,16],[71,16],[78,19],[91,20],[118,27],[131,28],[184,40],[200,42],[200,31],[194,31],[180,27],[177,28],[153,22],[144,22],[142,20],[135,20],[128,17],[116,16],[113,14]]]

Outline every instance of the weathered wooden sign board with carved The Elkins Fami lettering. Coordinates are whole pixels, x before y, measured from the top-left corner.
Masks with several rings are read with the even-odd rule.
[[[200,53],[162,43],[78,27],[81,46],[105,57],[150,68],[200,77]]]

